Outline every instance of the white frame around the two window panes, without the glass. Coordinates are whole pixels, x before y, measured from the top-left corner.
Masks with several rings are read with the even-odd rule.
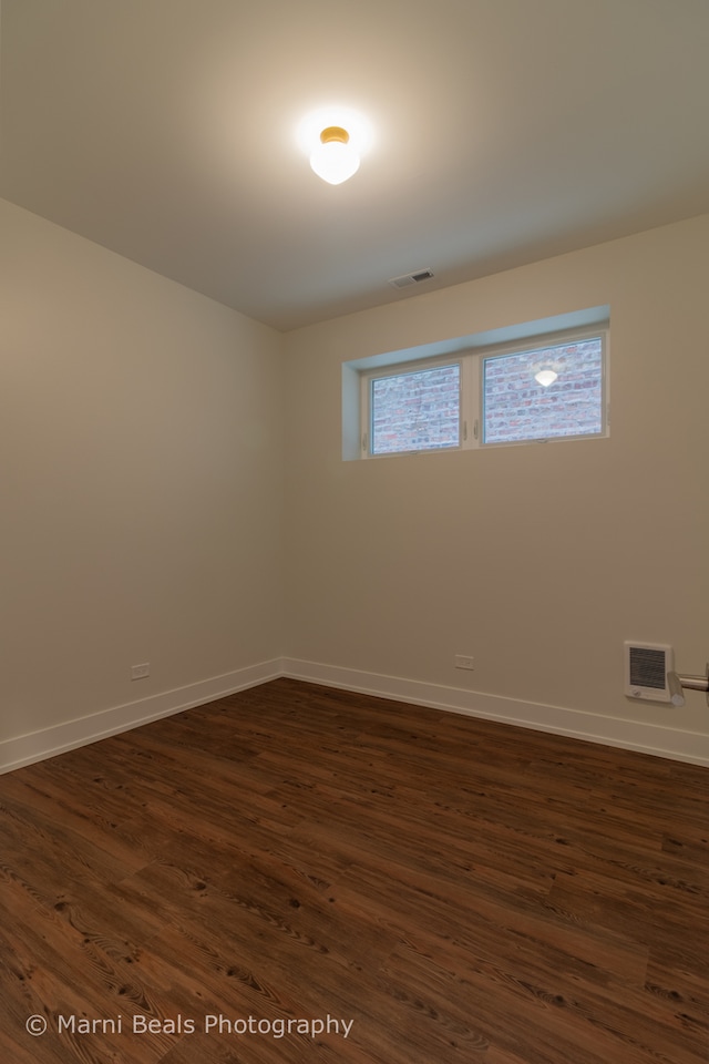
[[[582,342],[600,338],[602,342],[602,429],[599,432],[585,432],[574,436],[551,436],[538,439],[526,440],[502,440],[499,442],[485,442],[483,439],[483,374],[485,360],[491,358],[502,358],[508,355],[525,355],[531,351],[544,350],[552,347],[564,347],[571,344]],[[383,458],[405,458],[412,454],[450,454],[452,451],[476,450],[501,447],[526,447],[531,443],[569,443],[578,440],[598,440],[604,439],[609,433],[610,426],[610,405],[608,388],[608,349],[609,349],[609,326],[608,323],[602,325],[584,326],[582,328],[566,329],[564,331],[547,332],[538,336],[530,336],[515,341],[495,344],[487,347],[474,347],[459,351],[455,355],[439,355],[434,357],[412,358],[407,361],[392,361],[390,364],[379,364],[373,369],[363,369],[360,371],[359,382],[359,408],[360,408],[360,458],[363,459],[383,459]],[[372,381],[405,374],[418,372],[425,369],[434,369],[438,366],[459,365],[461,368],[460,382],[460,432],[458,444],[448,447],[432,447],[420,450],[387,451],[382,454],[373,454],[371,451],[371,390]]]

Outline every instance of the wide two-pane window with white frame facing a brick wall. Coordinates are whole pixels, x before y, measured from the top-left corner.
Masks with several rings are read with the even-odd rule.
[[[602,326],[425,361],[378,359],[359,370],[359,457],[604,437],[606,337]]]

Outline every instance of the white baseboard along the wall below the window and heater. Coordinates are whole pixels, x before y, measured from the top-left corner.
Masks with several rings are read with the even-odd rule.
[[[322,684],[326,687],[341,687],[345,690],[378,695],[394,702],[409,702],[432,709],[446,709],[533,728],[536,732],[551,732],[589,743],[600,743],[604,746],[709,766],[709,735],[696,732],[681,732],[677,728],[644,724],[641,720],[604,717],[600,714],[565,709],[561,706],[545,706],[460,687],[425,684],[296,658],[282,658],[281,666],[284,676]]]

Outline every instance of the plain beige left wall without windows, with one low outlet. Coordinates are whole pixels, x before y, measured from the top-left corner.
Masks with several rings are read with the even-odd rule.
[[[8,203],[0,233],[0,740],[277,658],[281,336]]]

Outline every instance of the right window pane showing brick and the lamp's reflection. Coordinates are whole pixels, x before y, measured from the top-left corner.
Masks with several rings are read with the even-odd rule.
[[[600,337],[483,359],[484,443],[603,431]]]

